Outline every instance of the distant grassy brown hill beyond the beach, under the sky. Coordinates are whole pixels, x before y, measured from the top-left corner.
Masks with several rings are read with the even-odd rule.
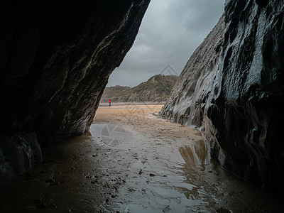
[[[165,102],[175,82],[176,75],[154,75],[136,87],[106,87],[101,102]]]

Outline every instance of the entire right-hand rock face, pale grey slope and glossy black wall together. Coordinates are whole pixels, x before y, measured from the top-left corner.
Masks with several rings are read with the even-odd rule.
[[[199,127],[214,160],[282,195],[283,11],[283,1],[227,0],[224,33],[218,33],[221,18],[187,62],[160,113]],[[218,38],[212,42],[222,43],[217,51],[206,45],[214,33]]]

